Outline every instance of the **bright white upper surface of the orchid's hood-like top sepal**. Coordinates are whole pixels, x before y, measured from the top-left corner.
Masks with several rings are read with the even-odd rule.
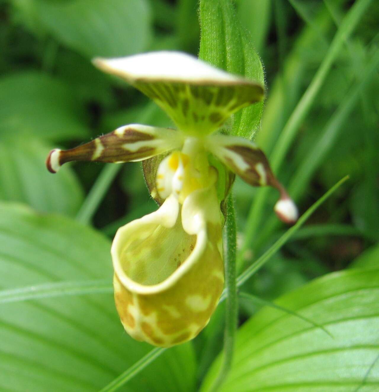
[[[158,51],[121,58],[95,58],[101,70],[130,81],[236,83],[245,80],[182,52]],[[247,82],[247,81],[246,81]]]

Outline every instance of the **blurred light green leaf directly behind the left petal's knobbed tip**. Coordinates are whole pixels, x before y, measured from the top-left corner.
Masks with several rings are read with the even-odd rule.
[[[47,172],[50,150],[32,136],[0,139],[0,200],[27,203],[38,212],[74,215],[83,203],[83,189],[70,168],[57,176]]]

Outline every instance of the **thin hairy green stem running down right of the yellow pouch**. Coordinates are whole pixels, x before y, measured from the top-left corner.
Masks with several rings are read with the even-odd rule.
[[[225,284],[227,291],[224,333],[224,358],[220,372],[211,391],[216,392],[226,379],[231,368],[234,351],[235,332],[238,317],[236,286],[236,220],[233,194],[227,199]]]

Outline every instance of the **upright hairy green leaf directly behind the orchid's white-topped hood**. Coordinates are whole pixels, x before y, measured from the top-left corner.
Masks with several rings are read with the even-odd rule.
[[[241,28],[229,0],[201,0],[200,24],[199,58],[264,85],[260,58]],[[234,114],[231,134],[253,138],[260,128],[262,110],[263,101]]]

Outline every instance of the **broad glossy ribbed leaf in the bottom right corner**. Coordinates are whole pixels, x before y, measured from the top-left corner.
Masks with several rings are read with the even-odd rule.
[[[377,270],[338,272],[276,302],[317,320],[334,339],[295,316],[263,308],[240,328],[233,368],[220,392],[377,390],[378,282]],[[220,358],[202,391],[209,390],[219,365]]]

